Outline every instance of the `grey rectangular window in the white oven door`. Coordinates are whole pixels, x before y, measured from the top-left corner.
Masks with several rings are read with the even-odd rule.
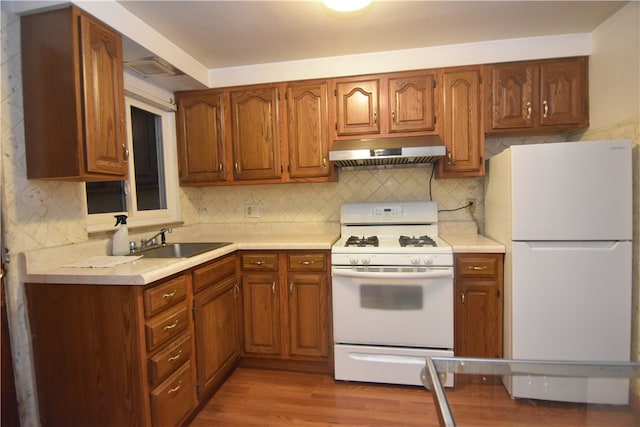
[[[360,306],[378,310],[422,310],[422,286],[362,285]]]

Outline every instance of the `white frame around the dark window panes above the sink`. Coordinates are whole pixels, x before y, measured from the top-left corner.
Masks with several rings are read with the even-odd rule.
[[[135,186],[135,158],[133,155],[133,136],[131,129],[131,107],[137,107],[160,117],[159,129],[162,138],[162,161],[165,180],[165,197],[167,207],[165,209],[139,211],[137,207]],[[178,186],[178,157],[176,144],[175,112],[159,108],[152,102],[146,102],[140,97],[125,96],[125,112],[127,123],[127,148],[129,150],[128,179],[124,181],[125,197],[128,212],[108,212],[89,214],[86,197],[86,185],[84,186],[85,207],[87,212],[87,231],[102,232],[114,230],[115,215],[127,215],[129,228],[147,227],[160,224],[180,222],[180,197]]]

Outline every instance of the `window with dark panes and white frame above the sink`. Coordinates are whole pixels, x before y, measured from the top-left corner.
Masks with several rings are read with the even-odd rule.
[[[86,183],[89,231],[114,229],[114,215],[129,227],[180,220],[175,117],[143,101],[126,98],[129,180]]]

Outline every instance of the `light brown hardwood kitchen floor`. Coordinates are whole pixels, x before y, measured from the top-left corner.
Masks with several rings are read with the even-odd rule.
[[[504,388],[460,384],[447,391],[457,425],[638,427],[628,407],[513,400]],[[421,387],[336,382],[329,375],[238,368],[189,427],[437,427]]]

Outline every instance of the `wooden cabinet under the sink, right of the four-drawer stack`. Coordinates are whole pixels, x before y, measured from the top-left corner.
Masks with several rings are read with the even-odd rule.
[[[242,298],[235,255],[193,272],[198,398],[210,395],[232,371],[241,352]]]

